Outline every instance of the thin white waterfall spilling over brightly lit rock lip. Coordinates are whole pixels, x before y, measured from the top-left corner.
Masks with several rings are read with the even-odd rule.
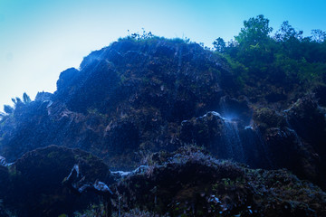
[[[264,138],[254,126],[250,108],[238,100],[223,97],[218,111],[223,119],[219,156],[253,167],[273,167]]]

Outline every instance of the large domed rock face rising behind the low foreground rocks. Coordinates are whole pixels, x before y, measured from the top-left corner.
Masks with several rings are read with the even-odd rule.
[[[180,122],[214,110],[229,73],[225,61],[196,43],[114,42],[92,52],[80,70],[62,71],[51,101],[42,93],[16,109],[16,120],[0,129],[9,132],[0,153],[14,161],[56,144],[81,147],[120,168],[135,166],[126,161],[139,157],[134,152],[180,146]]]

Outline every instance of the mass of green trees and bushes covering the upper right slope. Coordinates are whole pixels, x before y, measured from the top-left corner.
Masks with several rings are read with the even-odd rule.
[[[308,91],[317,83],[326,82],[325,32],[312,30],[312,36],[303,37],[303,32],[295,30],[288,21],[273,37],[272,31],[269,20],[258,15],[244,22],[235,41],[225,43],[217,38],[213,42],[245,94],[264,94],[260,87],[267,84],[290,92],[299,87]]]

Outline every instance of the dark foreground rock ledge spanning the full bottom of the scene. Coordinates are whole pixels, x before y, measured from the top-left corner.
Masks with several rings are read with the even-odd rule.
[[[197,146],[184,146],[174,153],[155,153],[147,160],[148,165],[132,172],[111,173],[99,158],[79,149],[36,149],[13,165],[0,166],[0,213],[72,216],[72,212],[79,211],[104,215],[103,208],[90,206],[100,203],[99,193],[72,189],[66,184],[72,181],[73,186],[82,189],[86,186],[98,191],[98,185],[110,187],[104,189],[110,196],[102,197],[101,203],[110,203],[117,214],[132,209],[148,211],[152,216],[326,214],[326,193],[286,170],[250,169],[217,160]]]

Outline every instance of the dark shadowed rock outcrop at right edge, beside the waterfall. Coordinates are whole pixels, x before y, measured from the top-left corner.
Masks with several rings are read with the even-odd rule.
[[[313,96],[298,99],[280,112],[268,108],[254,112],[273,165],[288,168],[322,188],[326,187],[325,114]]]

